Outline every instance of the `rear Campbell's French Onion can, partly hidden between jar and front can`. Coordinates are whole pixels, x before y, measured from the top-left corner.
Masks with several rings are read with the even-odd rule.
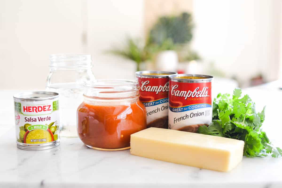
[[[176,76],[177,73],[139,71],[135,74],[140,86],[139,99],[147,111],[147,128],[168,129],[168,76]]]

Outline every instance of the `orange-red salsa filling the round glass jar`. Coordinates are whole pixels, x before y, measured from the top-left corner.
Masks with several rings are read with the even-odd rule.
[[[78,107],[77,119],[80,140],[94,149],[127,149],[130,135],[146,129],[146,109],[139,99],[117,106],[83,102]]]

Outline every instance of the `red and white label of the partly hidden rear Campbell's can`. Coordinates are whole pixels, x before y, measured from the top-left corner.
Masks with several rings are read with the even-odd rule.
[[[168,116],[168,78],[138,77],[140,101],[147,111],[147,125],[154,120]]]

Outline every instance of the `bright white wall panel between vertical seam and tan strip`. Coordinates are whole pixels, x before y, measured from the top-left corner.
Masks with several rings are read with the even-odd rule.
[[[136,65],[105,51],[122,47],[127,36],[143,37],[143,0],[87,1],[87,53],[96,78],[135,79]]]

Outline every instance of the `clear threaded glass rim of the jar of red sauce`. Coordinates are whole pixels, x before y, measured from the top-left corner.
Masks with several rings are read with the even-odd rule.
[[[139,94],[137,81],[125,79],[97,79],[84,82],[84,96],[98,98],[128,98]]]

